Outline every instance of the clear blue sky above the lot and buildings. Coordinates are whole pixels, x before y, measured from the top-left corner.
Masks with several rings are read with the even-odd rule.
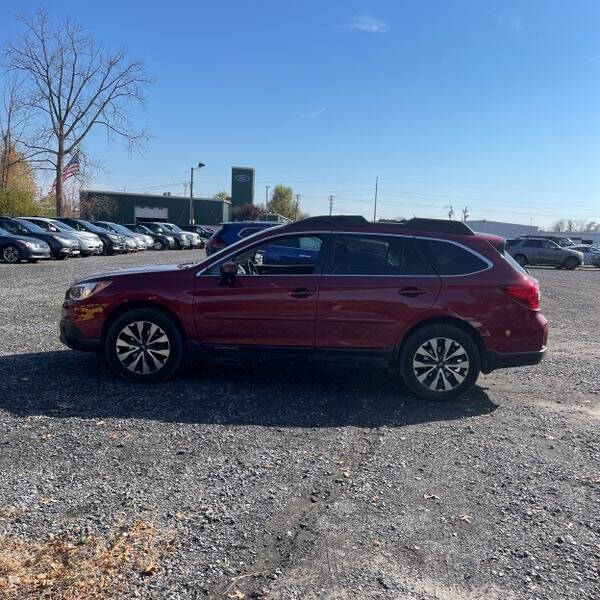
[[[21,11],[39,2],[21,0]],[[545,225],[600,220],[600,3],[115,2],[48,4],[156,78],[135,118],[144,156],[94,134],[94,188],[198,195],[256,169],[301,207]],[[13,35],[14,23],[3,24]]]

